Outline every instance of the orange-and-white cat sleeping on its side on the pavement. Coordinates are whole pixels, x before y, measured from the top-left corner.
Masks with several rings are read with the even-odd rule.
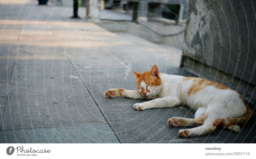
[[[240,132],[238,125],[245,124],[252,117],[252,110],[241,95],[220,83],[203,78],[159,73],[156,65],[151,71],[133,73],[137,78],[138,90],[109,89],[105,96],[153,99],[136,103],[133,106],[136,110],[187,105],[196,111],[194,119],[173,117],[168,120],[170,127],[194,127],[179,130],[181,137],[210,134],[219,125]]]

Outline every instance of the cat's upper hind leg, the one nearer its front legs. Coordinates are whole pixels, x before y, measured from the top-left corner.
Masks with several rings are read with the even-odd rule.
[[[169,127],[177,127],[177,126],[201,126],[203,125],[203,118],[206,112],[205,107],[200,107],[195,114],[195,119],[189,118],[181,118],[181,117],[173,117],[168,120],[167,124]]]

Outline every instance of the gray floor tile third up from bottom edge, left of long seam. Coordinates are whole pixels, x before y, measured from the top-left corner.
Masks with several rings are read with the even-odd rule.
[[[70,75],[14,75],[10,96],[88,93],[79,76]]]

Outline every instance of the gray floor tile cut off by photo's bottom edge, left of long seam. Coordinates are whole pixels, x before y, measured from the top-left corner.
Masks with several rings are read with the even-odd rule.
[[[108,124],[2,130],[0,143],[119,143]]]

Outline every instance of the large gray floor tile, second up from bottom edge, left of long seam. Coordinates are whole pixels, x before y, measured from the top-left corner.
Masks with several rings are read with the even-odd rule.
[[[2,130],[106,123],[90,94],[12,97]]]

